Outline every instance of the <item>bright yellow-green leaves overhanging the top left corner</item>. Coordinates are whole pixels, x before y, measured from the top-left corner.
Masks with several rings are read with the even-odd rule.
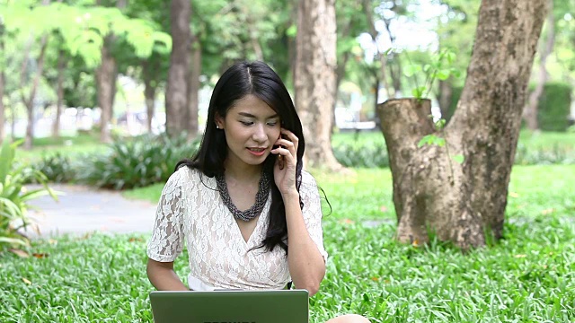
[[[155,48],[164,52],[172,48],[170,35],[156,31],[151,22],[128,18],[117,8],[11,2],[0,4],[0,16],[8,31],[20,32],[26,37],[57,31],[71,55],[83,57],[89,67],[100,64],[103,39],[111,32],[124,37],[137,57],[149,57]]]

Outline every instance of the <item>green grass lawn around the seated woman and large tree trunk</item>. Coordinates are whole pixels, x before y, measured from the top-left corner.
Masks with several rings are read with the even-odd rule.
[[[310,300],[312,322],[349,312],[372,322],[575,320],[575,166],[516,166],[505,238],[467,255],[438,241],[394,241],[388,170],[314,175],[332,214],[323,220],[330,258]],[[160,189],[129,194],[155,200]],[[5,253],[0,321],[150,321],[146,239],[95,234],[36,241],[38,257]],[[176,262],[181,277],[186,257]]]

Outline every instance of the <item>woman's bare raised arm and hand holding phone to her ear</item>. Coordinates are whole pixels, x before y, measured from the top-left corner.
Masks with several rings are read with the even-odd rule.
[[[278,155],[274,180],[286,207],[289,274],[296,288],[305,289],[312,296],[319,290],[325,275],[325,261],[307,230],[299,205],[300,196],[296,188],[296,152],[299,139],[284,128],[281,129],[281,135],[275,143],[279,147],[271,153]],[[319,216],[321,221],[321,212]],[[311,220],[308,219],[309,221]]]

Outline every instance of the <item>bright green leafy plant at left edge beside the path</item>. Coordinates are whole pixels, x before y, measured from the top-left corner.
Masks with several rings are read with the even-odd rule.
[[[27,213],[31,199],[47,194],[56,198],[54,191],[46,185],[44,174],[14,162],[18,144],[21,142],[10,144],[4,140],[0,149],[0,251],[5,247],[28,244],[28,239],[18,231],[31,223]],[[43,187],[27,191],[23,186],[29,178]]]

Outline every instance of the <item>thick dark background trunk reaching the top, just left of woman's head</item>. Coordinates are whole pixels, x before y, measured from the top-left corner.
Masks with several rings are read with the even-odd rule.
[[[166,131],[179,135],[186,131],[188,115],[188,80],[190,79],[190,16],[189,0],[172,0],[172,55],[165,93]]]

